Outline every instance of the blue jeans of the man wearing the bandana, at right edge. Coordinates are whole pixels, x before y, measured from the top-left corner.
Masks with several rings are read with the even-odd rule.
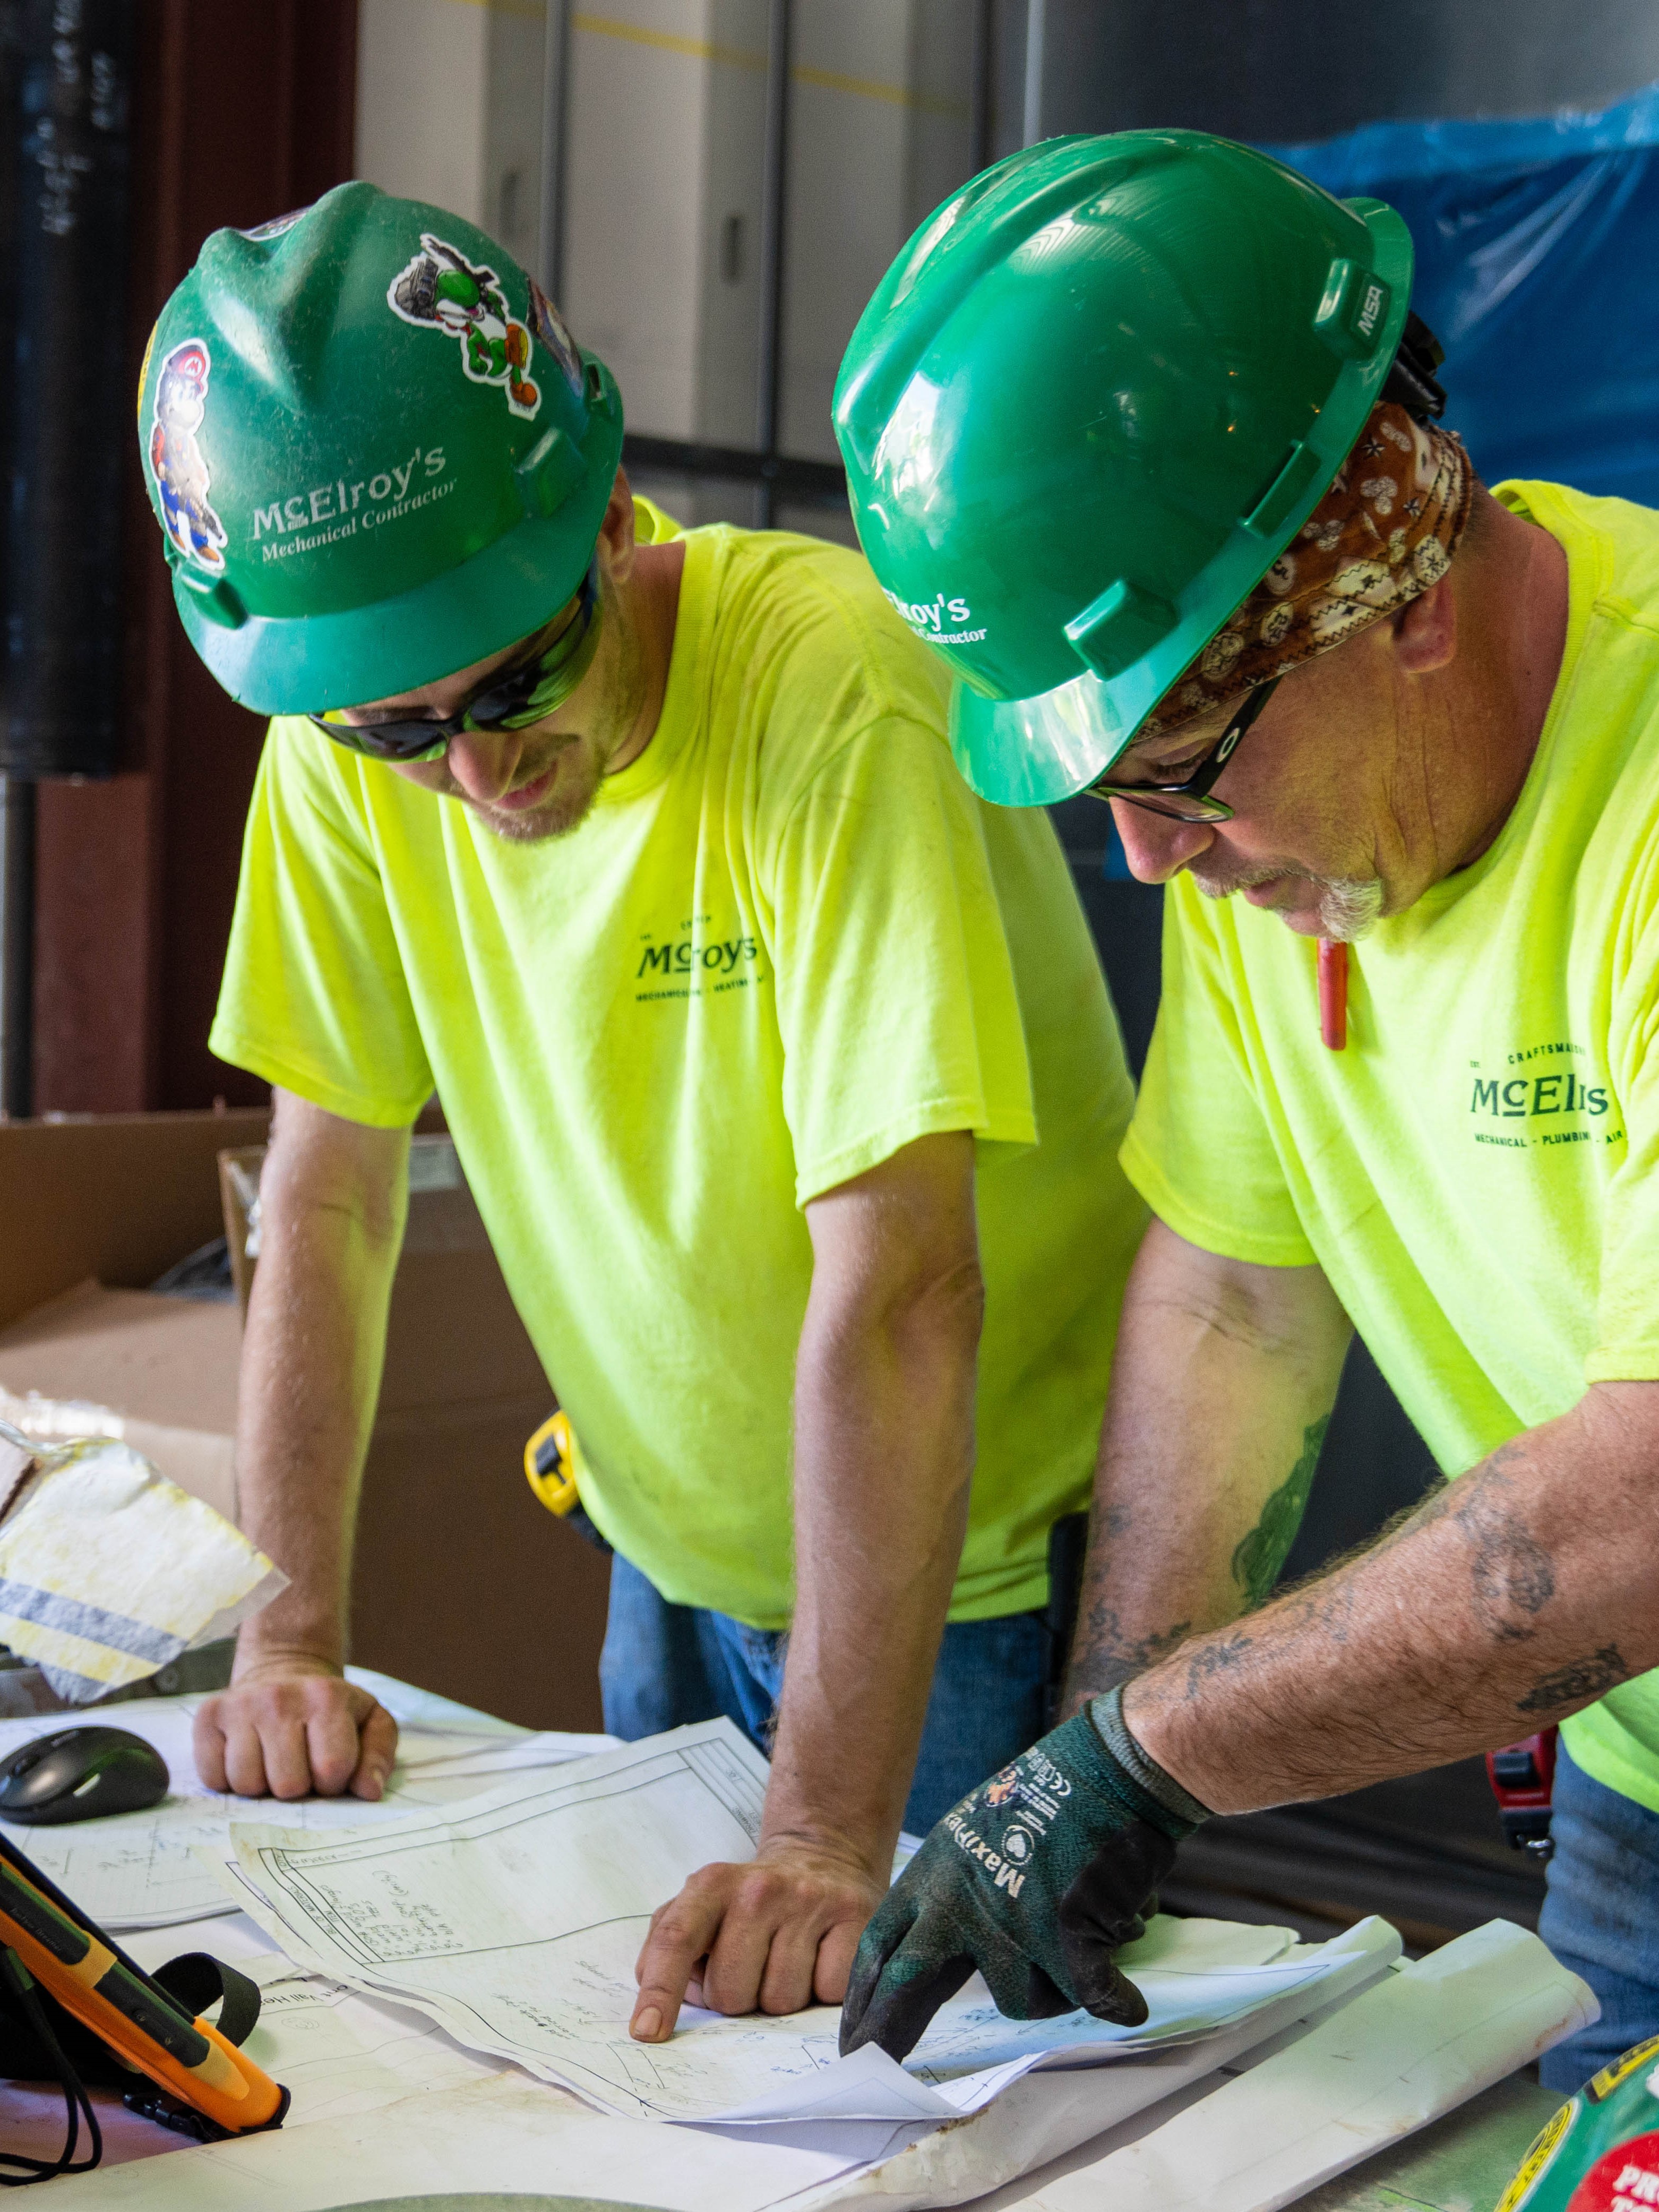
[[[1555,1752],[1548,1896],[1537,1933],[1601,2000],[1601,2017],[1537,2062],[1544,2088],[1575,2090],[1659,2035],[1659,1812]]]

